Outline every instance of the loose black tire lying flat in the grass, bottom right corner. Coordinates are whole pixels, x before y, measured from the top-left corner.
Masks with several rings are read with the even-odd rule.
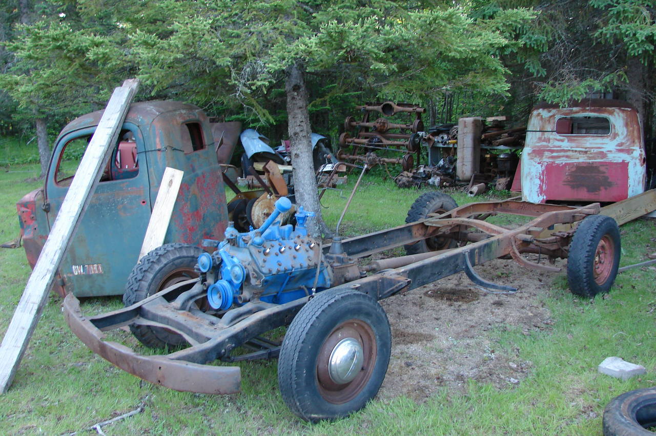
[[[611,400],[604,409],[604,436],[654,435],[656,387],[628,391]]]

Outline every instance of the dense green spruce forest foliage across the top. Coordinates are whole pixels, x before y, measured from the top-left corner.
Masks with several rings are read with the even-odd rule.
[[[427,126],[522,124],[536,102],[594,94],[634,104],[651,138],[655,12],[653,0],[7,0],[0,135],[38,138],[47,165],[67,121],[138,77],[137,100],[191,102],[273,144],[299,79],[312,131],[333,144],[365,102],[421,104]]]

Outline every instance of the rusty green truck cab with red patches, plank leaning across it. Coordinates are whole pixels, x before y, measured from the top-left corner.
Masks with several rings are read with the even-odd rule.
[[[43,188],[16,205],[33,268],[102,111],[83,115],[59,134]],[[222,239],[228,220],[211,125],[192,104],[134,103],[119,141],[62,260],[54,288],[75,296],[123,294],[166,167],[184,171],[165,243]]]

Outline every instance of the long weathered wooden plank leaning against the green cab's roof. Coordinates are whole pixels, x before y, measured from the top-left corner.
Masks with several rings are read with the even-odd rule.
[[[25,352],[41,310],[47,301],[54,275],[73,237],[79,218],[98,185],[100,172],[110,156],[121,132],[123,119],[138,89],[138,79],[128,79],[116,88],[105,108],[96,132],[89,142],[64,203],[52,224],[48,239],[16,306],[2,344],[0,344],[0,390],[7,392]]]

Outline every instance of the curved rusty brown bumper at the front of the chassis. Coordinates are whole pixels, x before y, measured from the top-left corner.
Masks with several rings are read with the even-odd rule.
[[[73,294],[64,298],[64,317],[73,333],[95,353],[147,382],[176,391],[214,394],[239,391],[239,367],[199,365],[161,355],[144,356],[122,344],[104,340],[104,333],[82,315],[79,301]]]

